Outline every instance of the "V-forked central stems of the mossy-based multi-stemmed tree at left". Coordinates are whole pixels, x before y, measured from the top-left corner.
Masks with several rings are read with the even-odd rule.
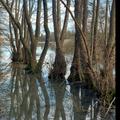
[[[41,0],[38,0],[37,3],[37,16],[36,16],[36,30],[35,30],[35,36],[33,35],[32,30],[32,24],[30,21],[30,16],[28,15],[28,9],[27,9],[27,0],[24,0],[24,10],[25,10],[25,18],[28,25],[28,30],[30,33],[30,39],[31,39],[31,56],[29,56],[30,62],[29,67],[34,70],[35,65],[37,63],[36,61],[36,49],[37,49],[37,43],[39,39],[40,34],[40,13],[41,13]]]

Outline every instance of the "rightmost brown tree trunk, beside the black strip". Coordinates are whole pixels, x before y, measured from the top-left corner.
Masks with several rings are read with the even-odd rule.
[[[109,30],[109,37],[106,46],[106,50],[104,53],[104,67],[103,67],[103,75],[102,77],[106,80],[106,89],[108,90],[110,81],[113,81],[113,62],[115,58],[113,57],[114,48],[115,48],[115,24],[116,24],[116,11],[115,11],[115,0],[112,3],[112,9],[110,14],[110,30]]]

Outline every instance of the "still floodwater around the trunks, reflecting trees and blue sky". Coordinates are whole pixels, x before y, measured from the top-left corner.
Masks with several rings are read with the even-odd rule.
[[[7,48],[10,50],[9,46]],[[43,45],[39,43],[37,59]],[[96,93],[73,86],[66,80],[49,81],[55,47],[51,43],[41,74],[28,74],[26,65],[11,63],[10,52],[0,47],[0,120],[101,120],[105,111],[98,106]],[[72,54],[66,54],[67,74]],[[49,62],[49,64],[46,64]],[[95,104],[95,105],[94,105]],[[105,120],[115,120],[115,112]]]

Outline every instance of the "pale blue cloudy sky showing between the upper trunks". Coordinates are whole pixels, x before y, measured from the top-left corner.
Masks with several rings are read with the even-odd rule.
[[[51,1],[52,0],[48,0],[48,4],[47,4],[48,5],[48,16],[49,16],[49,18],[48,18],[48,27],[50,29],[50,32],[54,32],[54,27],[53,27],[53,22],[52,22],[53,18],[52,18],[52,2]],[[92,2],[92,1],[93,0],[89,0],[89,2]],[[66,1],[65,1],[65,3],[66,3]],[[101,0],[101,5],[103,7],[105,7],[106,6],[106,0]],[[43,6],[43,3],[42,3],[42,6]],[[36,7],[37,7],[37,5],[35,4],[34,9],[36,9]],[[14,14],[14,8],[15,8],[15,5],[13,7],[13,14]],[[22,3],[20,4],[20,8],[22,8]],[[88,7],[89,10],[91,10],[91,8],[92,7],[90,7],[90,6]],[[62,26],[63,26],[64,16],[65,16],[65,10],[66,9],[65,9],[64,5],[61,3],[61,29],[62,29]],[[71,2],[70,10],[72,11],[72,13],[74,15],[74,2]],[[8,26],[9,19],[8,18],[9,18],[8,13],[5,13],[5,15],[4,15],[4,23],[5,23],[4,28],[6,28],[7,30],[9,30],[9,26]],[[91,17],[88,18],[88,21],[90,21],[90,20],[91,20]],[[35,31],[35,28],[36,28],[36,26],[35,26],[36,12],[34,12],[32,14],[31,22],[32,22],[33,31]],[[45,32],[44,32],[44,26],[43,26],[43,24],[44,24],[43,9],[41,11],[41,22],[40,23],[41,23],[41,34],[45,34]],[[88,25],[89,24],[90,23],[88,23]],[[68,22],[67,30],[74,31],[74,28],[75,28],[74,21],[72,20],[71,15],[69,15],[69,22]]]

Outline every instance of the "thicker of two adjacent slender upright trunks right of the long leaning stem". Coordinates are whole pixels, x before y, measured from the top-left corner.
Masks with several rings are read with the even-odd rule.
[[[98,37],[98,18],[99,18],[99,6],[100,0],[97,0],[97,8],[96,8],[96,19],[94,26],[94,43],[93,43],[93,59],[97,59],[97,37]]]

